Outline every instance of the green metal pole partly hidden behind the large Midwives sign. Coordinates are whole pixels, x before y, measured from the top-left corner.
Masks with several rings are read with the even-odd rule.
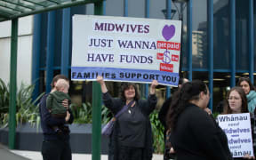
[[[94,4],[94,14],[103,14],[103,2]],[[101,101],[100,84],[92,82],[92,160],[100,160]]]

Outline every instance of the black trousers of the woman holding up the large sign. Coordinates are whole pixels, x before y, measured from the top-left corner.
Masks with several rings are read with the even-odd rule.
[[[142,160],[143,148],[120,146],[118,160]]]

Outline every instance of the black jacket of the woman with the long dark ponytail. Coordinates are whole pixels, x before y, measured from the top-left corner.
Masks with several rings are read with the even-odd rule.
[[[171,141],[178,160],[232,159],[225,132],[211,116],[193,104],[178,117]]]

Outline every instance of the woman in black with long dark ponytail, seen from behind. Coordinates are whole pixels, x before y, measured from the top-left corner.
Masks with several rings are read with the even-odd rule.
[[[228,139],[207,112],[209,90],[204,82],[183,84],[167,115],[171,143],[178,160],[230,160]]]

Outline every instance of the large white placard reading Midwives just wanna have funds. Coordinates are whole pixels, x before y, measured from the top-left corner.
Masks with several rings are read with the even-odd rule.
[[[72,80],[177,86],[180,20],[73,16]]]

